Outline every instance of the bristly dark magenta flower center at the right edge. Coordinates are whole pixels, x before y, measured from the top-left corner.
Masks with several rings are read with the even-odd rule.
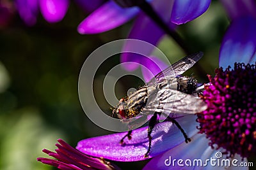
[[[255,64],[235,63],[216,69],[216,76],[208,75],[202,99],[207,110],[198,114],[200,133],[232,156],[238,153],[250,157],[256,153],[256,71]]]

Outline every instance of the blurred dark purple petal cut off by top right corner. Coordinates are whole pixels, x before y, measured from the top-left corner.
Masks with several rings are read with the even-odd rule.
[[[221,0],[221,3],[232,20],[245,16],[256,17],[256,3],[254,0]]]

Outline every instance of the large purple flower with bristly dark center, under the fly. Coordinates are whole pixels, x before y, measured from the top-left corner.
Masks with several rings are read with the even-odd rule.
[[[247,19],[244,17],[247,17]],[[243,15],[234,18],[221,45],[220,66],[233,65],[237,61],[246,64],[255,62],[256,44],[255,31],[253,31],[255,26],[253,24],[255,24],[255,19],[252,16]],[[240,34],[237,34],[237,32],[240,32]],[[236,48],[231,48],[232,45],[236,46]],[[244,50],[244,48],[248,50]],[[239,52],[240,57],[237,57],[236,52]],[[181,126],[188,132],[188,136],[193,136],[192,142],[188,144],[178,137],[180,135],[179,131],[172,131],[174,128],[172,124],[168,124],[168,122],[161,123],[157,131],[152,135],[155,141],[152,143],[150,157],[154,158],[145,169],[163,169],[163,162],[169,155],[175,155],[175,159],[186,159],[186,156],[188,158],[207,159],[218,152],[228,152],[231,154],[230,159],[237,158],[241,160],[242,157],[255,154],[255,68],[255,65],[245,66],[238,64],[235,66],[234,71],[227,69],[225,72],[218,69],[216,78],[210,79],[211,86],[205,87],[204,99],[209,108],[202,112],[202,115],[199,115],[198,118],[201,126],[200,132],[204,132],[210,140],[206,139],[203,134],[196,134],[198,131],[195,127],[198,124],[193,115],[179,118]],[[241,85],[242,87],[239,87]],[[232,89],[234,94],[225,93],[230,92],[227,89]],[[234,104],[234,102],[237,102],[237,104]],[[220,104],[224,104],[226,108]],[[238,104],[241,104],[241,107],[243,106],[244,108],[236,110],[234,107],[240,106]],[[222,112],[217,112],[217,114],[216,110],[221,110]],[[210,114],[212,111],[215,111],[214,115]],[[223,115],[226,111],[227,115]],[[238,114],[239,111],[242,111],[243,114]],[[238,122],[236,121],[237,119]],[[233,121],[234,124],[229,123],[228,125],[227,120]],[[84,139],[77,144],[77,149],[93,156],[99,157],[103,155],[111,160],[135,161],[145,159],[143,154],[147,151],[148,146],[146,128],[136,129],[132,139],[127,139],[125,146],[121,146],[119,141],[124,135],[125,133],[118,133]],[[223,136],[223,139],[221,136]],[[224,140],[224,137],[226,140]],[[235,139],[239,139],[239,142],[236,143]],[[208,145],[210,141],[211,146]],[[244,147],[246,150],[244,150]],[[159,163],[157,164],[157,162]],[[165,168],[168,169],[168,167]]]

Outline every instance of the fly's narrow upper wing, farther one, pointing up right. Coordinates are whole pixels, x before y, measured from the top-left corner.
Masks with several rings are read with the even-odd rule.
[[[148,81],[147,85],[155,84],[163,79],[175,78],[190,69],[198,60],[203,57],[203,52],[193,53],[175,62],[172,66],[167,67],[164,71],[158,73],[154,78]]]

